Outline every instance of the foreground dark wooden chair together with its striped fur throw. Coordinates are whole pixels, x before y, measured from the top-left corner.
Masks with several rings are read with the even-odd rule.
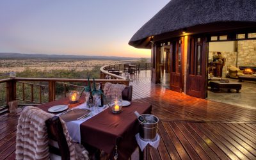
[[[72,141],[63,120],[33,106],[20,115],[15,154],[15,159],[89,159],[87,150]]]

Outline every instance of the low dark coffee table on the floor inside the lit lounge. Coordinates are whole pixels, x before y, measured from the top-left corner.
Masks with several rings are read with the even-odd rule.
[[[236,93],[239,93],[239,90],[242,88],[242,84],[240,83],[235,83],[235,82],[230,82],[230,83],[221,83],[220,81],[210,81],[210,86],[212,90],[214,88],[217,88],[220,90],[221,88],[227,89],[228,92],[231,92],[231,89],[236,90]]]

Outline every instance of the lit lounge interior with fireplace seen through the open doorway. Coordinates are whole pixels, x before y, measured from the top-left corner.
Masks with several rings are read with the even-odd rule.
[[[209,42],[207,64],[207,99],[255,108],[256,40]],[[212,88],[211,81],[241,84],[241,89]]]

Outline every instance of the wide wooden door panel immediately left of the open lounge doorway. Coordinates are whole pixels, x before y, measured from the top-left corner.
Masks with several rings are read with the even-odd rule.
[[[206,97],[207,39],[205,37],[188,38],[188,74],[186,93],[193,97]]]

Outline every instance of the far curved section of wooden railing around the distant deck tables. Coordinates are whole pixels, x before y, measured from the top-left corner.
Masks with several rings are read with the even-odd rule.
[[[100,79],[126,79],[125,75],[118,76],[116,74],[112,74],[108,72],[108,69],[117,69],[122,70],[125,72],[125,65],[138,65],[140,68],[139,70],[149,70],[151,69],[151,63],[150,62],[141,62],[141,63],[118,63],[115,65],[105,65],[100,68]],[[131,81],[131,79],[127,79]]]

